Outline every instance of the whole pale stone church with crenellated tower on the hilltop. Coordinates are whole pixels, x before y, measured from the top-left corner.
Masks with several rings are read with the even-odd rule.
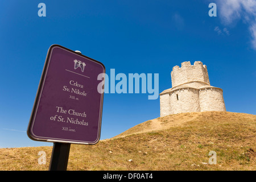
[[[207,66],[201,61],[181,63],[171,72],[172,88],[160,93],[160,117],[169,114],[226,111],[223,90],[210,85]]]

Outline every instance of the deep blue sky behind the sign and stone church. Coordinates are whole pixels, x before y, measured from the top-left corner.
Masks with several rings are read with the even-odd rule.
[[[38,4],[46,4],[46,17]],[[209,3],[217,16],[210,17]],[[159,73],[159,93],[183,61],[207,65],[227,111],[256,114],[256,1],[1,1],[0,147],[52,146],[26,130],[48,48],[101,61],[106,73]],[[105,94],[101,139],[160,116],[159,98]]]

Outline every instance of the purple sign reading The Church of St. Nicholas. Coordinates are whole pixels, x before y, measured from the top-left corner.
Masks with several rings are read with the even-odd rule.
[[[46,142],[96,144],[100,140],[105,73],[102,63],[59,45],[49,48],[28,137]],[[102,88],[103,89],[103,88]]]

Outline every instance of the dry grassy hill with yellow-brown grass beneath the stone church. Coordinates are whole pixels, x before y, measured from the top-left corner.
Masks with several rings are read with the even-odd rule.
[[[94,146],[71,145],[68,170],[256,170],[256,115],[172,114]],[[38,152],[46,164],[38,164]],[[0,170],[48,170],[52,147],[0,148]],[[208,163],[209,151],[217,164]],[[131,160],[130,160],[131,159]]]

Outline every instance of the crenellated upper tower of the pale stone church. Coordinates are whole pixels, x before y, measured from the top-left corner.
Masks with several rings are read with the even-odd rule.
[[[182,85],[191,81],[205,82],[210,85],[207,66],[201,61],[195,61],[191,65],[190,61],[181,63],[181,67],[176,65],[171,72],[172,87]]]

